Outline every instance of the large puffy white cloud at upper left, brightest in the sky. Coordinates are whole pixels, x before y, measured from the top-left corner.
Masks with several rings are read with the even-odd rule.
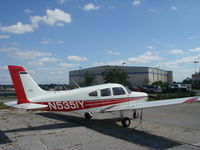
[[[66,13],[60,9],[47,9],[46,16],[31,17],[32,24],[37,27],[40,22],[50,26],[64,26],[64,23],[71,23],[71,14]]]

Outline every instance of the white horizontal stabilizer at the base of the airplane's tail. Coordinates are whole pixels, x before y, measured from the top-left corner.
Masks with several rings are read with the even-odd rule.
[[[17,104],[17,101],[7,102],[4,103],[10,107],[15,107],[19,109],[42,109],[48,107],[48,105],[43,104],[34,104],[34,103],[23,103],[23,104]]]

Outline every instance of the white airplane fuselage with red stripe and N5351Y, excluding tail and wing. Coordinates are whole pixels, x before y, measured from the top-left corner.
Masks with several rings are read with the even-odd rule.
[[[114,95],[113,88],[122,88],[125,94]],[[101,96],[102,89],[110,89],[110,96]],[[97,96],[89,96],[93,91],[97,91]],[[147,98],[146,93],[128,93],[122,85],[110,83],[68,91],[46,91],[45,94],[29,100],[36,104],[48,105],[43,109],[47,111],[103,112],[114,106],[144,102]]]

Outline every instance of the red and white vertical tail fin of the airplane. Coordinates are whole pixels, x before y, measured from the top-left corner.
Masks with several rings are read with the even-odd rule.
[[[45,94],[23,67],[9,65],[8,69],[18,98],[17,104],[30,103],[32,98]]]

